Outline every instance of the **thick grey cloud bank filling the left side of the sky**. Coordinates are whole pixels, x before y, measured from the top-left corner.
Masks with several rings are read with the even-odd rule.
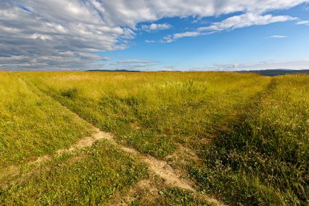
[[[125,48],[134,32],[107,25],[88,7],[78,1],[2,1],[0,69],[95,69],[93,62],[108,58],[89,52]]]

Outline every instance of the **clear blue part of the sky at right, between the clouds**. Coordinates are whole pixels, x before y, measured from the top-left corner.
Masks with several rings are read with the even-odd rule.
[[[276,15],[297,16],[309,19],[308,4],[298,5],[289,10],[269,12]],[[196,28],[209,25],[211,22],[223,21],[230,15],[205,17],[203,19],[165,18],[155,23],[168,23],[169,30],[139,32],[132,45],[116,52],[100,52],[100,55],[111,56],[113,62],[126,59],[157,60],[162,65],[153,69],[173,67],[179,70],[220,69],[216,65],[235,65],[247,63],[250,66],[259,62],[285,62],[309,59],[309,26],[297,25],[297,20],[272,23],[269,25],[253,25],[231,31],[218,32],[205,36],[185,37],[173,43],[161,43],[161,38],[168,34],[183,31],[194,31]],[[277,38],[275,38],[277,37]],[[282,37],[282,38],[278,38]],[[156,41],[146,43],[146,41]],[[292,69],[304,69],[301,67]],[[164,68],[165,67],[165,68]],[[276,67],[268,66],[269,69]],[[265,68],[268,68],[267,66]],[[278,67],[279,68],[279,67]],[[305,67],[309,69],[308,67]],[[223,70],[230,69],[223,67]],[[252,67],[252,69],[259,69]]]

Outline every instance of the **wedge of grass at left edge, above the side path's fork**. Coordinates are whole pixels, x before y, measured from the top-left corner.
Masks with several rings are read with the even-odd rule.
[[[67,148],[89,135],[84,121],[14,73],[0,73],[0,168]]]

